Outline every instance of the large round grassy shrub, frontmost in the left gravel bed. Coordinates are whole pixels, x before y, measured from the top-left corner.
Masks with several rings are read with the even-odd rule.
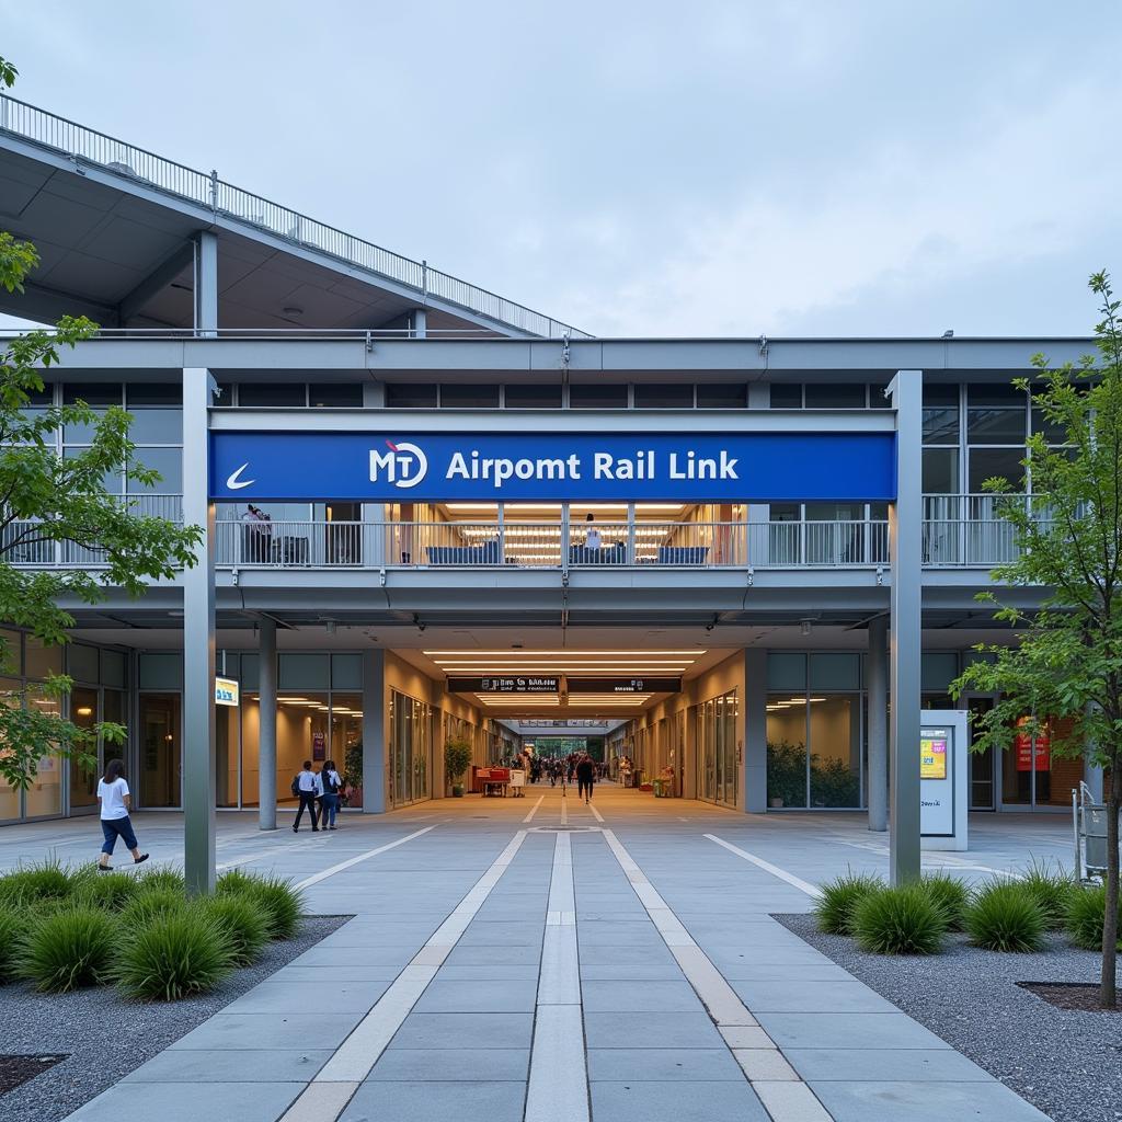
[[[206,993],[232,968],[229,944],[200,908],[156,916],[126,944],[114,972],[132,997],[178,1001]]]

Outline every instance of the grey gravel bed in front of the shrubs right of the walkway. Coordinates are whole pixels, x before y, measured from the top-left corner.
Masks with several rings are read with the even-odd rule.
[[[1096,953],[1050,936],[1046,951],[1004,955],[951,936],[941,955],[866,955],[812,916],[775,919],[1055,1122],[1122,1119],[1122,1015],[1058,1009],[1018,985],[1097,982]]]

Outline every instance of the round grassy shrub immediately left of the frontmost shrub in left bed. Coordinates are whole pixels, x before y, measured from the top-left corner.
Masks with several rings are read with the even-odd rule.
[[[17,969],[37,990],[65,993],[108,981],[120,945],[116,917],[75,903],[31,921]]]

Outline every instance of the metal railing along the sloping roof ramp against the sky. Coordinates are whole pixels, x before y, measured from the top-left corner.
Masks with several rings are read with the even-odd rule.
[[[215,215],[232,218],[284,238],[293,245],[386,277],[414,289],[422,301],[436,296],[490,320],[548,339],[565,334],[591,338],[587,332],[578,331],[524,304],[431,268],[426,261],[403,257],[251,191],[236,187],[220,180],[217,172],[206,175],[16,98],[0,96],[0,131],[62,153],[75,166],[83,162],[96,165],[102,171],[142,183],[146,187],[205,206]]]

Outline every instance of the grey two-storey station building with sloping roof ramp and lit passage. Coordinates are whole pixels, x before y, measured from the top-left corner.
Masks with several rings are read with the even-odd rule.
[[[1011,379],[1092,347],[598,339],[10,98],[0,211],[42,255],[0,310],[102,325],[36,404],[125,406],[163,481],[110,489],[175,519],[193,487],[211,504],[215,671],[237,700],[215,707],[219,808],[284,806],[303,760],[333,758],[359,776],[352,806],[381,812],[444,797],[448,738],[485,764],[595,736],[682,797],[875,810],[886,387],[920,371],[920,682],[947,708],[974,644],[1008,637],[975,594],[1013,548],[982,481],[1018,477],[1040,423]],[[59,454],[89,438],[59,432]],[[806,484],[800,449],[836,493]],[[99,564],[20,528],[12,563]],[[128,726],[147,810],[184,798],[183,583],[75,605],[65,651],[7,635],[9,683],[65,670],[71,719]],[[973,809],[1047,810],[1083,774],[1033,745],[973,756],[969,778]],[[92,812],[95,784],[45,760],[28,791],[0,788],[0,821]]]

